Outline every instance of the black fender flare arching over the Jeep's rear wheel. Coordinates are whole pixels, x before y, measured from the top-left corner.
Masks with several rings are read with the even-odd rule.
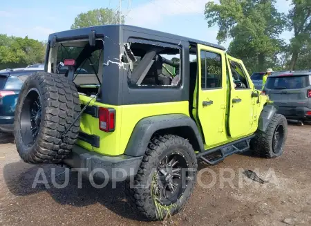
[[[143,156],[153,134],[163,129],[176,129],[177,134],[175,134],[182,134],[183,136],[180,136],[188,139],[196,151],[204,151],[196,122],[187,115],[169,114],[145,117],[140,120],[133,129],[124,154],[134,157]]]

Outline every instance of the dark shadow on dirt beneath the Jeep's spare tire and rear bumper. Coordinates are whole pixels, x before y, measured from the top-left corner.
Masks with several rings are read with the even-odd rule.
[[[44,170],[42,174],[46,175],[49,187],[46,187],[44,183],[38,183],[35,188],[32,188],[38,169],[40,168]],[[97,189],[91,185],[91,182],[83,179],[82,188],[79,188],[77,173],[70,172],[68,174],[68,185],[62,189],[57,189],[52,183],[51,170],[53,168],[55,169],[55,175],[58,175],[56,176],[56,182],[62,185],[66,179],[66,173],[62,173],[64,172],[64,168],[53,164],[31,167],[31,165],[22,161],[13,162],[4,166],[3,176],[6,186],[16,196],[28,196],[43,191],[47,192],[60,205],[85,207],[94,203],[100,203],[124,218],[148,221],[137,210],[131,208],[127,202],[124,194],[124,182],[117,183],[115,188],[112,188],[113,185],[109,182],[106,187]],[[39,181],[42,180],[44,178],[39,176]],[[100,185],[102,182],[96,181],[96,183]]]

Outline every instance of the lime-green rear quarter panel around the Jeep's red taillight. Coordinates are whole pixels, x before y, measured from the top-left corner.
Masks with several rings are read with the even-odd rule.
[[[79,96],[82,104],[86,104],[90,97]],[[91,115],[83,114],[80,120],[80,129],[84,133],[100,136],[100,148],[78,140],[77,144],[106,156],[118,156],[124,153],[135,125],[144,117],[182,113],[189,116],[189,102],[167,102],[156,104],[133,104],[124,106],[112,106],[92,101],[90,106],[102,106],[115,109],[115,131],[104,132],[99,129],[99,120]]]

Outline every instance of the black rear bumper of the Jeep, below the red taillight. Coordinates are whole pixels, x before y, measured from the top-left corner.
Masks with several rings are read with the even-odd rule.
[[[75,145],[70,158],[64,160],[64,164],[80,171],[86,178],[100,178],[111,181],[123,181],[136,175],[142,157],[102,156],[93,151],[88,151]]]

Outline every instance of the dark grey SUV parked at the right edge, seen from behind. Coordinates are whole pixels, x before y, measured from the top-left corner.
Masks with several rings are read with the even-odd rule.
[[[267,77],[263,93],[289,120],[311,121],[311,72],[274,73]]]

